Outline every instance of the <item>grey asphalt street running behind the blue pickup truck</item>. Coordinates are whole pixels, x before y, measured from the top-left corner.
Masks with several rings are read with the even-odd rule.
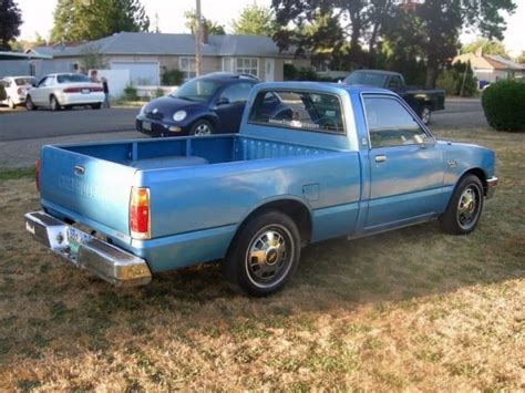
[[[486,127],[480,100],[447,99],[432,128]],[[27,112],[0,110],[0,168],[34,163],[42,145],[145,137],[135,130],[138,108]]]

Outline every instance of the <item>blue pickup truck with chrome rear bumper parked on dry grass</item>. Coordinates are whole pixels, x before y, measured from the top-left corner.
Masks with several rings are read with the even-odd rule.
[[[436,141],[388,90],[262,83],[239,134],[44,146],[42,210],[25,227],[115,285],[222,260],[234,287],[266,296],[312,242],[434,218],[469,234],[497,185],[494,162]]]

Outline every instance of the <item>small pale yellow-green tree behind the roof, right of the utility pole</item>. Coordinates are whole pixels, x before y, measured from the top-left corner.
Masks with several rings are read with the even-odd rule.
[[[276,31],[275,15],[271,9],[257,4],[247,6],[237,20],[231,22],[235,34],[268,35]]]

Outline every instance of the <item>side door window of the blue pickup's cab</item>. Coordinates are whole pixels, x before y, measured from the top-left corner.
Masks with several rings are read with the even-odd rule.
[[[420,144],[425,132],[395,99],[366,96],[364,113],[371,147]]]

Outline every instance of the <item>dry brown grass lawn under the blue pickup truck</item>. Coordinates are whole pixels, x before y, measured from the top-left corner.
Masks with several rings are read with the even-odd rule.
[[[316,245],[267,299],[217,265],[112,288],[29,239],[32,180],[0,180],[0,391],[525,390],[525,135],[437,134],[498,154],[475,232]]]

